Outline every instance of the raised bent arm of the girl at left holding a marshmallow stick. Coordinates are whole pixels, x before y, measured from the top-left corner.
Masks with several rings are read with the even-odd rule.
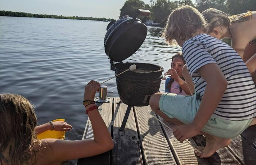
[[[85,87],[84,100],[94,100],[95,92],[99,88],[100,84],[98,82],[90,81]],[[94,104],[88,105],[86,106],[86,109],[88,110],[93,106]],[[41,151],[43,159],[48,159],[49,162],[59,163],[71,159],[91,157],[112,149],[114,146],[112,137],[100,116],[98,109],[95,108],[89,111],[88,115],[92,124],[94,139],[75,141],[43,139],[42,142],[48,144],[45,146],[50,146]]]

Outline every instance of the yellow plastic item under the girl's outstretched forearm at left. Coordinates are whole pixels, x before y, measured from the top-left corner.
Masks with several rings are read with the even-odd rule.
[[[65,121],[65,119],[55,119],[54,121]],[[54,130],[47,130],[45,132],[42,132],[41,134],[37,135],[38,139],[46,139],[46,138],[51,138],[51,139],[65,139],[65,132],[66,131],[54,131]]]

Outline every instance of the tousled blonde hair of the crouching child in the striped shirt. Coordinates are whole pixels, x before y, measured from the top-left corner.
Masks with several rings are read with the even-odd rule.
[[[197,31],[207,32],[204,17],[197,9],[184,5],[170,13],[162,36],[173,45],[174,39],[185,40]]]

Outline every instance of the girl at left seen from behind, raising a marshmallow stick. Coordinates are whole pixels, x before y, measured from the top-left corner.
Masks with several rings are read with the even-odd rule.
[[[91,120],[94,139],[75,141],[38,140],[34,130],[37,117],[33,105],[21,95],[0,94],[0,164],[59,165],[63,161],[91,157],[112,149],[114,144],[109,130],[93,102],[99,88],[98,82],[90,81],[85,86],[83,102]]]

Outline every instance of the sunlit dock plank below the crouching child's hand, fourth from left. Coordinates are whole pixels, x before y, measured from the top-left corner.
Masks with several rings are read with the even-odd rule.
[[[168,127],[173,129],[175,125],[171,122],[165,122],[164,119],[158,116],[159,119],[164,122]],[[208,161],[201,159],[194,154],[194,148],[184,141],[183,143],[179,142],[173,135],[172,130],[162,125],[163,131],[166,134],[166,138],[169,141],[170,147],[173,150],[173,155],[177,159],[180,165],[209,165]],[[196,147],[196,143],[192,138],[189,138],[188,141]]]

